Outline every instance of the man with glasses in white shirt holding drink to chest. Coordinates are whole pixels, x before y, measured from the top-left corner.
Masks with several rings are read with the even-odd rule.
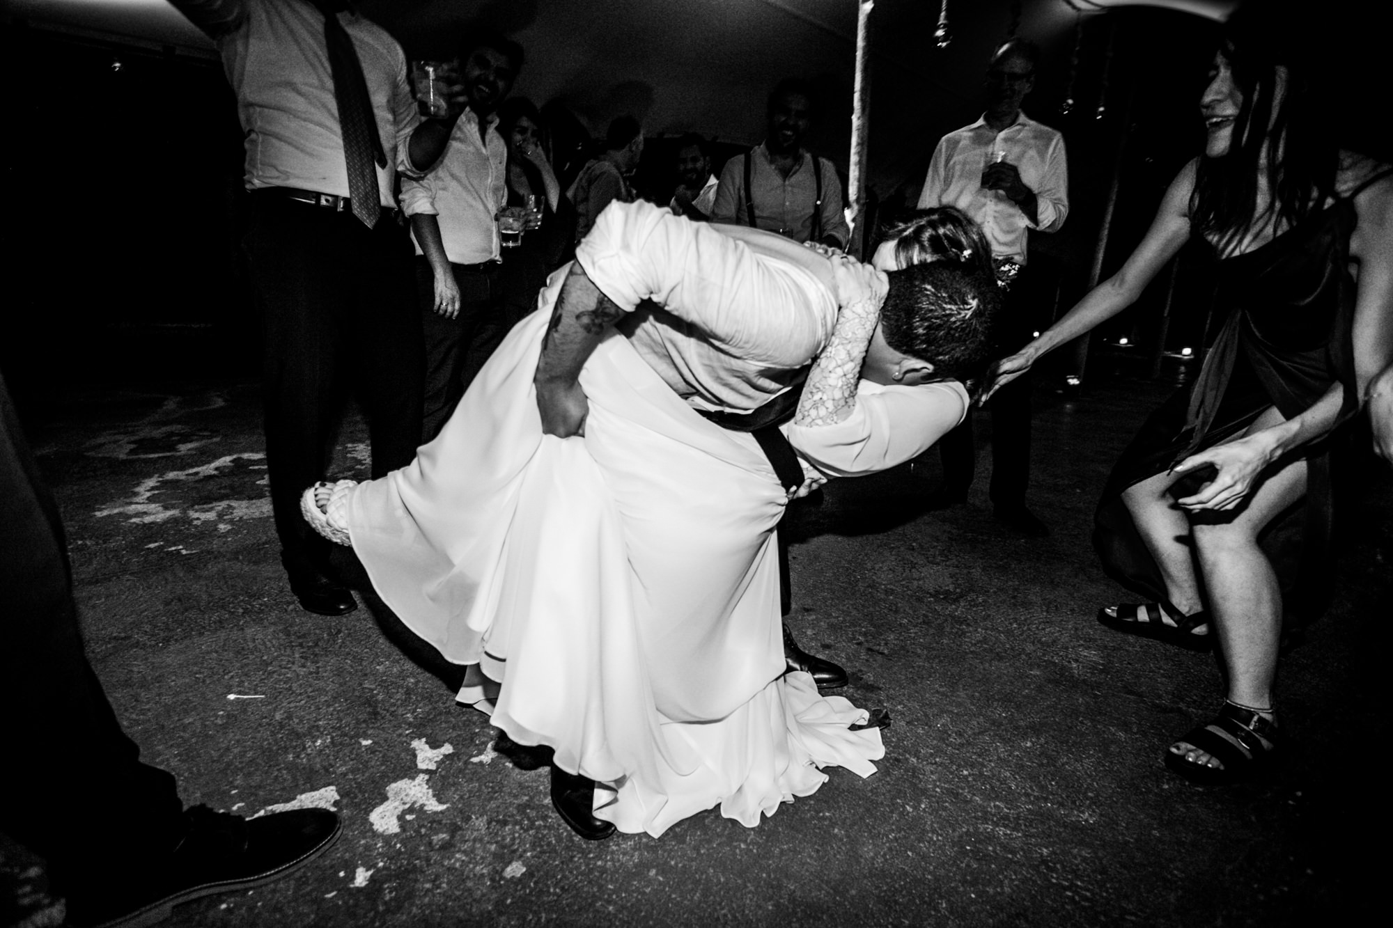
[[[1039,52],[1011,39],[986,68],[986,113],[976,123],[939,139],[919,195],[919,209],[957,206],[986,233],[1003,279],[1010,279],[1003,308],[1003,344],[1029,340],[1027,240],[1029,230],[1056,231],[1068,215],[1068,167],[1064,137],[1021,113],[1035,85]],[[1011,279],[1014,276],[1014,279]],[[1014,389],[1013,393],[1007,390]],[[1027,536],[1049,528],[1025,507],[1031,454],[1031,387],[1020,378],[997,390],[992,410],[992,504],[999,520]],[[972,484],[971,418],[939,443],[943,488],[939,504],[967,499]]]

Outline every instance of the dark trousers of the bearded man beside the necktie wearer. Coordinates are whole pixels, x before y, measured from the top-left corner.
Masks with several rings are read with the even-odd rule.
[[[435,311],[435,272],[417,256],[417,304],[425,332],[425,410],[422,444],[432,440],[454,415],[454,407],[479,368],[507,334],[499,265],[450,265],[460,287],[460,312],[447,319]]]

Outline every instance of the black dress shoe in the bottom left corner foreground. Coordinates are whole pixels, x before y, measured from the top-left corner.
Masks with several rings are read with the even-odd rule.
[[[184,812],[188,833],[169,869],[150,885],[132,888],[123,902],[102,900],[104,911],[72,913],[72,925],[139,928],[170,917],[170,910],[203,896],[254,889],[287,876],[329,850],[343,825],[337,812],[301,808],[256,819],[195,805]],[[74,900],[78,902],[78,900]]]

